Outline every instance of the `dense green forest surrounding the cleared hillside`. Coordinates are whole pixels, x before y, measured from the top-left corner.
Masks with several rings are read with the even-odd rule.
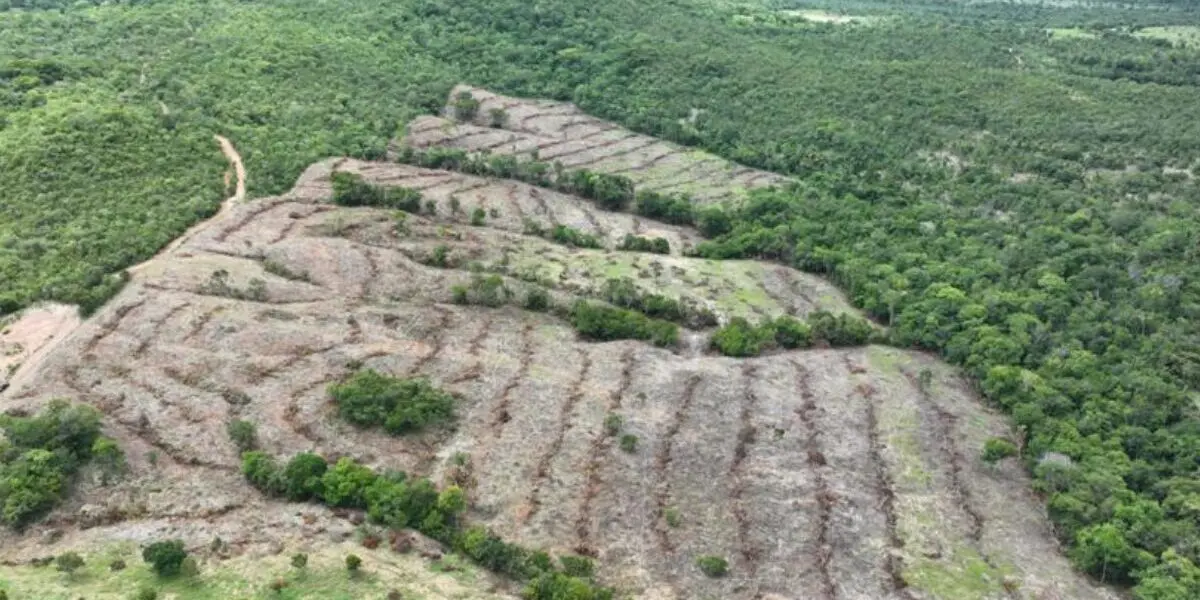
[[[92,308],[212,212],[214,133],[268,194],[455,83],[572,100],[796,175],[702,252],[827,274],[962,365],[1081,569],[1200,598],[1194,2],[94,4],[0,0],[0,313]]]

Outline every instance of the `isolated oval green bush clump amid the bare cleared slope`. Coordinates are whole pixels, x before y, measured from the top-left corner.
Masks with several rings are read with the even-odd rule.
[[[365,370],[330,385],[329,395],[342,419],[360,427],[382,426],[394,436],[454,419],[454,396],[424,378],[398,379]]]

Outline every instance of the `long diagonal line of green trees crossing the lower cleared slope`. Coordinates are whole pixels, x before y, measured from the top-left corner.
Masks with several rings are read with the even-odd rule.
[[[292,502],[316,502],[331,508],[366,511],[367,518],[389,529],[416,529],[450,546],[480,566],[527,582],[529,600],[611,600],[613,590],[592,581],[592,566],[581,557],[562,557],[509,544],[490,530],[467,527],[467,499],[462,488],[443,490],[425,478],[403,472],[378,473],[342,457],[330,466],[325,458],[301,452],[286,464],[260,451],[242,455],[246,479],[268,496]]]

